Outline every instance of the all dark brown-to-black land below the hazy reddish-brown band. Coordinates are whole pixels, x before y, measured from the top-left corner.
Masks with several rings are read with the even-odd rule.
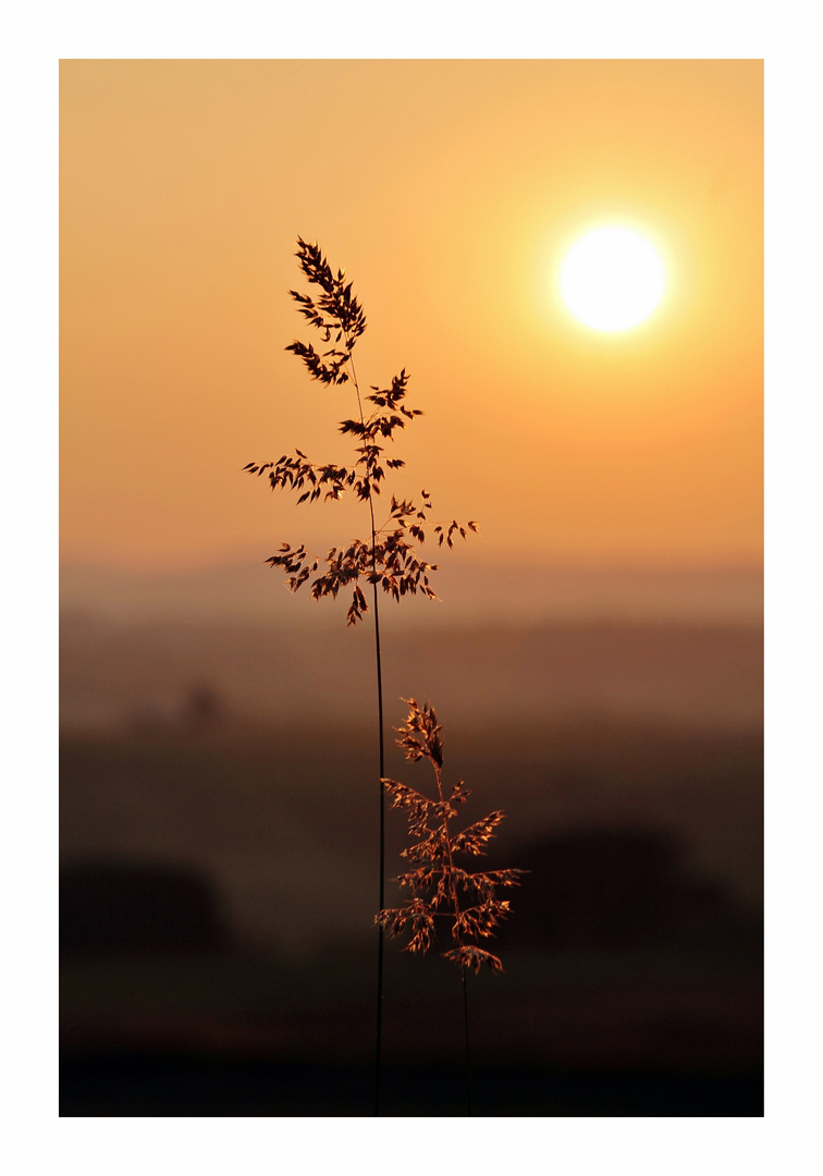
[[[63,741],[61,1115],[373,1114],[369,734]],[[473,1112],[761,1116],[762,733],[455,728],[447,750],[469,820],[509,814],[489,866],[529,871],[506,973],[470,977]],[[390,942],[384,990],[382,1114],[464,1115],[460,973]]]

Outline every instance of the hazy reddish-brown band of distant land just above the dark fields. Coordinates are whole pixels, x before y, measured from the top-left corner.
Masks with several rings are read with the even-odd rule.
[[[390,723],[401,696],[431,700],[449,727],[604,721],[758,729],[758,624],[721,622],[483,622],[453,629],[383,624]],[[61,624],[63,730],[187,720],[198,693],[214,719],[368,724],[374,648],[346,629],[226,622]]]

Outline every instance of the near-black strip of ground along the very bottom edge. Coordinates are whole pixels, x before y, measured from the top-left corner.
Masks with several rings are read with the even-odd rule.
[[[473,1115],[547,1117],[758,1117],[763,1081],[742,1074],[560,1073],[475,1067]],[[69,1055],[60,1068],[61,1116],[367,1116],[368,1065],[203,1058],[183,1054]],[[461,1065],[389,1065],[381,1115],[466,1115]]]

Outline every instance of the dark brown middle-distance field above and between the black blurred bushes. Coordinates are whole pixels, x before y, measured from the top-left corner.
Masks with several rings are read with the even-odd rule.
[[[509,814],[499,864],[558,830],[661,831],[684,869],[758,908],[760,733],[591,721],[455,724],[446,739],[447,779],[475,791],[469,813]],[[394,746],[387,771],[415,779]],[[65,737],[62,857],[189,863],[215,880],[233,926],[299,950],[369,934],[376,789],[374,734],[362,727]],[[403,835],[392,817],[389,870]]]

